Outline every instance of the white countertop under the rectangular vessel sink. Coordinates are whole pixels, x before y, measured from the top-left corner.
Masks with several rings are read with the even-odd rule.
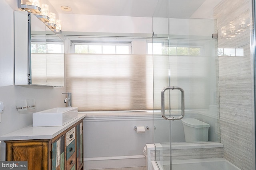
[[[29,125],[17,131],[8,133],[0,137],[1,141],[12,140],[30,140],[30,139],[52,139],[58,134],[68,129],[71,125],[77,123],[81,119],[84,119],[86,114],[78,113],[78,117],[63,126],[50,126],[50,127],[33,127]]]

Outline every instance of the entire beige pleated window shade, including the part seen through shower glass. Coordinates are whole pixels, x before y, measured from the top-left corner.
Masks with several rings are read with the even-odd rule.
[[[72,106],[79,111],[161,109],[166,86],[183,88],[186,109],[206,109],[214,103],[213,57],[154,55],[153,60],[152,55],[66,54],[65,58],[66,92],[72,92]],[[170,90],[166,95],[166,109],[180,109],[180,92]]]

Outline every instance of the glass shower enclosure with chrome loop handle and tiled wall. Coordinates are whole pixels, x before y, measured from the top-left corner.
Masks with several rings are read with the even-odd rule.
[[[230,2],[236,8],[227,8]],[[152,48],[154,145],[159,169],[176,170],[174,160],[216,157],[224,157],[242,170],[253,169],[248,3],[222,0],[212,8],[215,19],[196,19],[176,16],[171,0],[158,2],[152,18]],[[197,132],[186,134],[186,125]],[[200,131],[200,127],[207,128]],[[174,149],[184,143],[221,143],[224,148],[216,149],[218,155]]]

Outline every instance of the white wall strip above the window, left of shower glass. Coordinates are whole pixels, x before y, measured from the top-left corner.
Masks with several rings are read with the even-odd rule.
[[[152,33],[152,18],[59,14],[62,31],[94,33]]]

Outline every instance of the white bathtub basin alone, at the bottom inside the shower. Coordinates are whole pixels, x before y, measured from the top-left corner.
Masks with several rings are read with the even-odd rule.
[[[151,170],[170,170],[168,162],[159,162],[159,168],[155,161],[151,161]],[[190,160],[173,160],[172,170],[241,170],[224,158],[206,158]]]

